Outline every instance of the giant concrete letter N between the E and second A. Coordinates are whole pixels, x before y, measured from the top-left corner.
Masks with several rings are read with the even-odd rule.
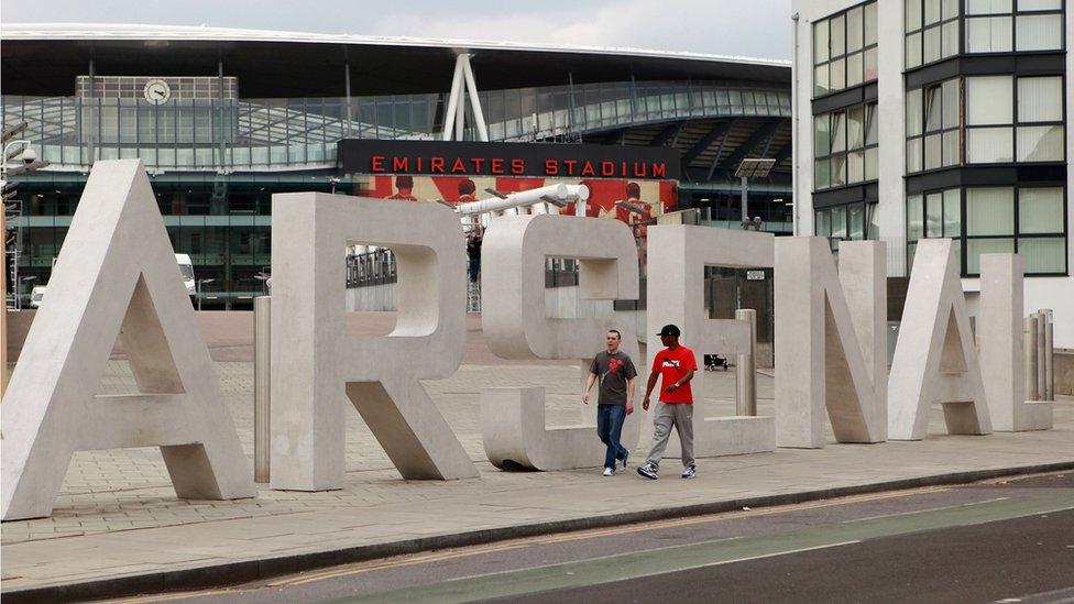
[[[887,438],[884,243],[845,241],[835,274],[826,238],[776,240],[776,443]]]

